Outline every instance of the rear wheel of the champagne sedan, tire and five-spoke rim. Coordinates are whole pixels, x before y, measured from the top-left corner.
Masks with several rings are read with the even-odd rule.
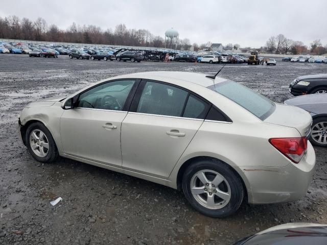
[[[207,183],[202,183],[200,179]],[[217,159],[198,160],[189,165],[183,174],[182,189],[193,208],[211,217],[225,217],[235,213],[244,198],[241,178],[229,165]],[[200,192],[194,193],[194,190]],[[209,197],[212,198],[208,199]],[[212,202],[208,203],[209,200]]]

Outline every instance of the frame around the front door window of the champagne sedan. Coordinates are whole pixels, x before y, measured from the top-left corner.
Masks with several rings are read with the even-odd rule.
[[[101,86],[101,85],[103,85],[103,84],[106,84],[106,83],[111,83],[111,82],[118,82],[118,81],[129,81],[129,80],[132,80],[132,81],[135,81],[134,82],[134,84],[133,84],[133,86],[132,86],[132,88],[131,88],[131,90],[129,91],[129,94],[127,95],[127,98],[126,98],[126,101],[125,101],[125,104],[124,104],[124,107],[123,107],[123,109],[122,110],[113,110],[113,111],[127,111],[128,112],[128,110],[129,110],[129,108],[130,108],[130,105],[131,105],[131,103],[132,103],[132,99],[133,99],[133,97],[134,97],[134,94],[135,94],[135,92],[136,92],[136,90],[137,90],[137,87],[139,86],[139,83],[141,82],[141,79],[136,79],[136,78],[121,78],[121,79],[114,79],[114,80],[107,80],[107,81],[104,81],[104,82],[102,82],[102,83],[99,83],[99,84],[97,84],[97,85],[95,85],[95,86],[92,86],[92,87],[90,87],[90,88],[88,88],[88,89],[85,89],[85,90],[83,90],[82,92],[80,92],[79,94],[78,94],[78,97],[77,97],[77,100],[76,100],[76,102],[75,102],[75,104],[78,104],[78,102],[79,102],[79,100],[80,100],[80,96],[81,96],[81,94],[83,94],[83,93],[85,93],[85,92],[87,92],[87,91],[89,91],[89,90],[91,90],[91,89],[93,89],[93,88],[96,88],[96,87],[98,87],[98,86]],[[76,96],[76,95],[75,95]],[[75,107],[75,108],[83,108],[84,109],[84,107]],[[97,109],[97,108],[85,108],[85,109],[95,109],[95,110],[104,110],[104,111],[111,111],[111,110],[105,110],[105,109]]]

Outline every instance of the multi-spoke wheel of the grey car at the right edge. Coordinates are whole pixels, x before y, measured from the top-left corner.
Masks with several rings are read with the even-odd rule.
[[[313,119],[310,142],[316,146],[327,146],[327,116]]]

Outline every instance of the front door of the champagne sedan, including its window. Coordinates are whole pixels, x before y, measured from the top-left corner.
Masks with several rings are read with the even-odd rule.
[[[115,80],[82,92],[60,118],[64,154],[121,167],[121,125],[137,84]]]

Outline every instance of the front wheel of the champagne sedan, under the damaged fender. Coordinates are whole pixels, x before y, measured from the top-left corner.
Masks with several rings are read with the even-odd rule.
[[[59,154],[56,143],[50,131],[41,122],[34,122],[31,124],[26,130],[25,137],[27,148],[37,161],[52,162],[58,157]],[[39,141],[40,143],[37,143],[37,138],[41,140]],[[33,142],[35,143],[33,144]],[[40,144],[41,146],[36,146],[36,144]],[[48,149],[46,149],[45,145],[47,145]],[[36,148],[33,150],[32,148],[34,148],[34,146],[36,146]]]

